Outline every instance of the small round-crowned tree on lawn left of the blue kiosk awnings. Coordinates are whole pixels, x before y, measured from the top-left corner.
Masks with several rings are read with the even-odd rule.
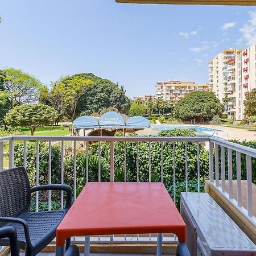
[[[50,125],[57,118],[56,110],[43,104],[27,104],[15,106],[5,117],[5,122],[13,127],[28,127],[34,135],[39,125]]]

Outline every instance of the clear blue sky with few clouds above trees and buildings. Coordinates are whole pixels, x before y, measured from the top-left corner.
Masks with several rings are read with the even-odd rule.
[[[256,43],[255,7],[1,0],[0,16],[0,68],[47,85],[91,72],[129,97],[154,94],[156,81],[208,82],[218,52]]]

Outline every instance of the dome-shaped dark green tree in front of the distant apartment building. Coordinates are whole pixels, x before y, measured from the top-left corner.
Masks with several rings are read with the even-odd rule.
[[[178,101],[174,114],[181,119],[197,118],[201,122],[204,118],[221,115],[223,105],[213,92],[193,92]]]

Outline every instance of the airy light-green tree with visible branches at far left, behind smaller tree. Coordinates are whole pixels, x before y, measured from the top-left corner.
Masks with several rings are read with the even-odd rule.
[[[10,105],[37,103],[42,83],[20,69],[5,68],[0,73],[2,86],[9,92]]]

